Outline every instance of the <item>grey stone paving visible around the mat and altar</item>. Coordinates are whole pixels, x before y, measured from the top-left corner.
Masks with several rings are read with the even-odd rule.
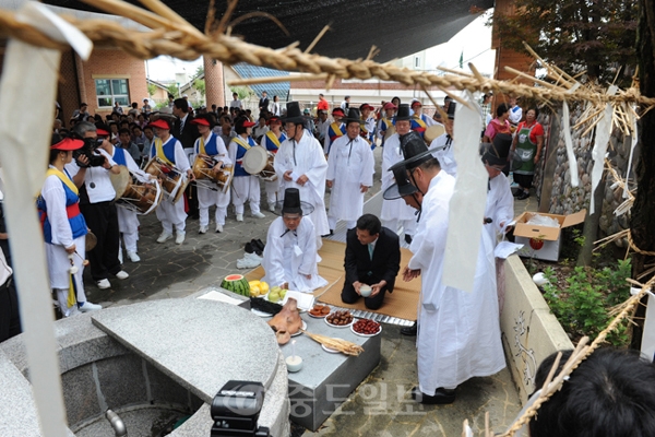
[[[381,149],[376,149],[374,187],[367,199],[380,190]],[[263,194],[263,193],[262,193]],[[262,196],[262,199],[264,197]],[[329,203],[329,193],[326,198]],[[536,198],[516,201],[515,211],[536,210]],[[212,212],[212,211],[211,211]],[[126,259],[130,273],[124,281],[111,279],[111,288],[98,290],[86,273],[88,299],[105,307],[134,302],[184,297],[210,285],[218,285],[228,273],[238,271],[236,261],[243,256],[243,245],[252,238],[265,240],[275,215],[262,209],[265,218],[249,216],[237,223],[230,211],[221,234],[198,234],[199,223],[187,220],[187,239],[157,244],[162,232],[155,215],[142,217],[139,253],[142,262]],[[210,214],[212,216],[212,214]],[[210,229],[214,228],[214,223]],[[246,271],[243,271],[246,272]],[[474,378],[457,388],[452,405],[430,406],[414,403],[409,391],[417,382],[415,339],[400,334],[400,327],[384,326],[380,366],[348,398],[317,433],[295,428],[294,436],[460,436],[462,422],[468,418],[476,435],[484,429],[487,411],[496,432],[503,430],[520,411],[517,392],[510,373],[504,369],[488,378]]]

